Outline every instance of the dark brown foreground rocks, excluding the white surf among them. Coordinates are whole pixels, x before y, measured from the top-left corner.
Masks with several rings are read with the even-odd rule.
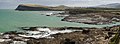
[[[120,26],[114,26],[110,29],[117,29],[116,27]],[[45,27],[46,28],[46,27]],[[52,29],[52,27],[50,27]],[[30,27],[29,30],[36,29],[36,27]],[[64,29],[78,29],[83,30],[82,32],[71,32],[71,33],[58,33],[50,35],[50,37],[54,38],[33,38],[33,37],[22,37],[18,34],[24,33],[18,33],[18,32],[6,32],[5,34],[9,34],[7,36],[11,36],[10,38],[4,38],[4,35],[0,36],[0,39],[12,39],[10,41],[25,41],[27,44],[107,44],[110,40],[110,37],[114,35],[115,33],[113,31],[104,31],[106,29],[104,28],[81,28],[81,27],[56,27],[53,28],[54,30],[64,30]],[[29,31],[28,30],[28,31]],[[26,31],[26,30],[25,30]],[[108,34],[107,34],[108,33]],[[26,34],[26,33],[25,33]],[[29,40],[26,40],[29,39]],[[0,42],[1,43],[1,42]],[[2,42],[2,44],[6,44],[9,42]]]

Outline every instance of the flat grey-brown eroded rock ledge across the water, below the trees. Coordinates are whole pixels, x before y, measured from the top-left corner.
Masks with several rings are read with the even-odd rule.
[[[86,14],[71,14],[62,21],[77,22],[85,24],[111,24],[120,22],[120,15],[113,13],[86,13]]]

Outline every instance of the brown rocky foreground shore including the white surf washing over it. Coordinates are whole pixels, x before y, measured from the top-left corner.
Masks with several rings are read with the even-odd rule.
[[[118,28],[20,27],[1,33],[0,44],[108,44]]]

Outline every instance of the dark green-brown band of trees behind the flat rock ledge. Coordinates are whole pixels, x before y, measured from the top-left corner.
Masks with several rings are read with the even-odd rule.
[[[65,11],[68,11],[69,14],[84,14],[84,13],[96,13],[96,12],[120,12],[119,8],[94,8],[94,7],[88,7],[88,8],[69,8]]]

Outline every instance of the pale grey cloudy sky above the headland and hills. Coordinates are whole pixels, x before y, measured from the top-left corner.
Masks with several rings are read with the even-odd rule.
[[[15,9],[19,4],[67,5],[72,7],[89,7],[110,3],[120,3],[120,0],[0,0],[0,9]]]

